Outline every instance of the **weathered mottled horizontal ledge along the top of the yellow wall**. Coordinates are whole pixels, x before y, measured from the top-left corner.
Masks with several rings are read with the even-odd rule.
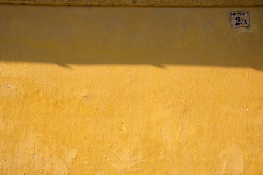
[[[263,0],[0,0],[0,3],[94,6],[252,6]]]

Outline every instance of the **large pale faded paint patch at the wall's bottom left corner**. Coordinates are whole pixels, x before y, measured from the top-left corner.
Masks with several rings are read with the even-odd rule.
[[[47,145],[44,147],[41,143],[41,137],[38,132],[34,131],[34,127],[30,132],[23,132],[20,136],[20,140],[15,146],[14,153],[6,153],[5,159],[0,160],[0,164],[3,167],[3,172],[9,172],[13,174],[15,169],[12,168],[13,163],[16,164],[16,168],[24,171],[54,173],[58,175],[68,174],[71,170],[72,159],[75,159],[77,149],[65,148],[65,157],[59,157],[56,151],[56,141],[54,141],[53,154],[50,155],[50,150]],[[10,145],[1,143],[1,150],[5,151],[11,147]],[[25,166],[27,164],[28,166]]]

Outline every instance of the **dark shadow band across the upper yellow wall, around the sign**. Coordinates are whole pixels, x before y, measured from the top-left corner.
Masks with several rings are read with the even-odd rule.
[[[263,69],[262,7],[1,4],[0,61]],[[230,11],[251,27],[230,27]],[[220,15],[218,15],[220,14]]]

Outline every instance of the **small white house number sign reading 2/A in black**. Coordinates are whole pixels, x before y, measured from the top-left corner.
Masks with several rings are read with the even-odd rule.
[[[231,17],[231,27],[250,26],[249,11],[230,12],[230,17]]]

